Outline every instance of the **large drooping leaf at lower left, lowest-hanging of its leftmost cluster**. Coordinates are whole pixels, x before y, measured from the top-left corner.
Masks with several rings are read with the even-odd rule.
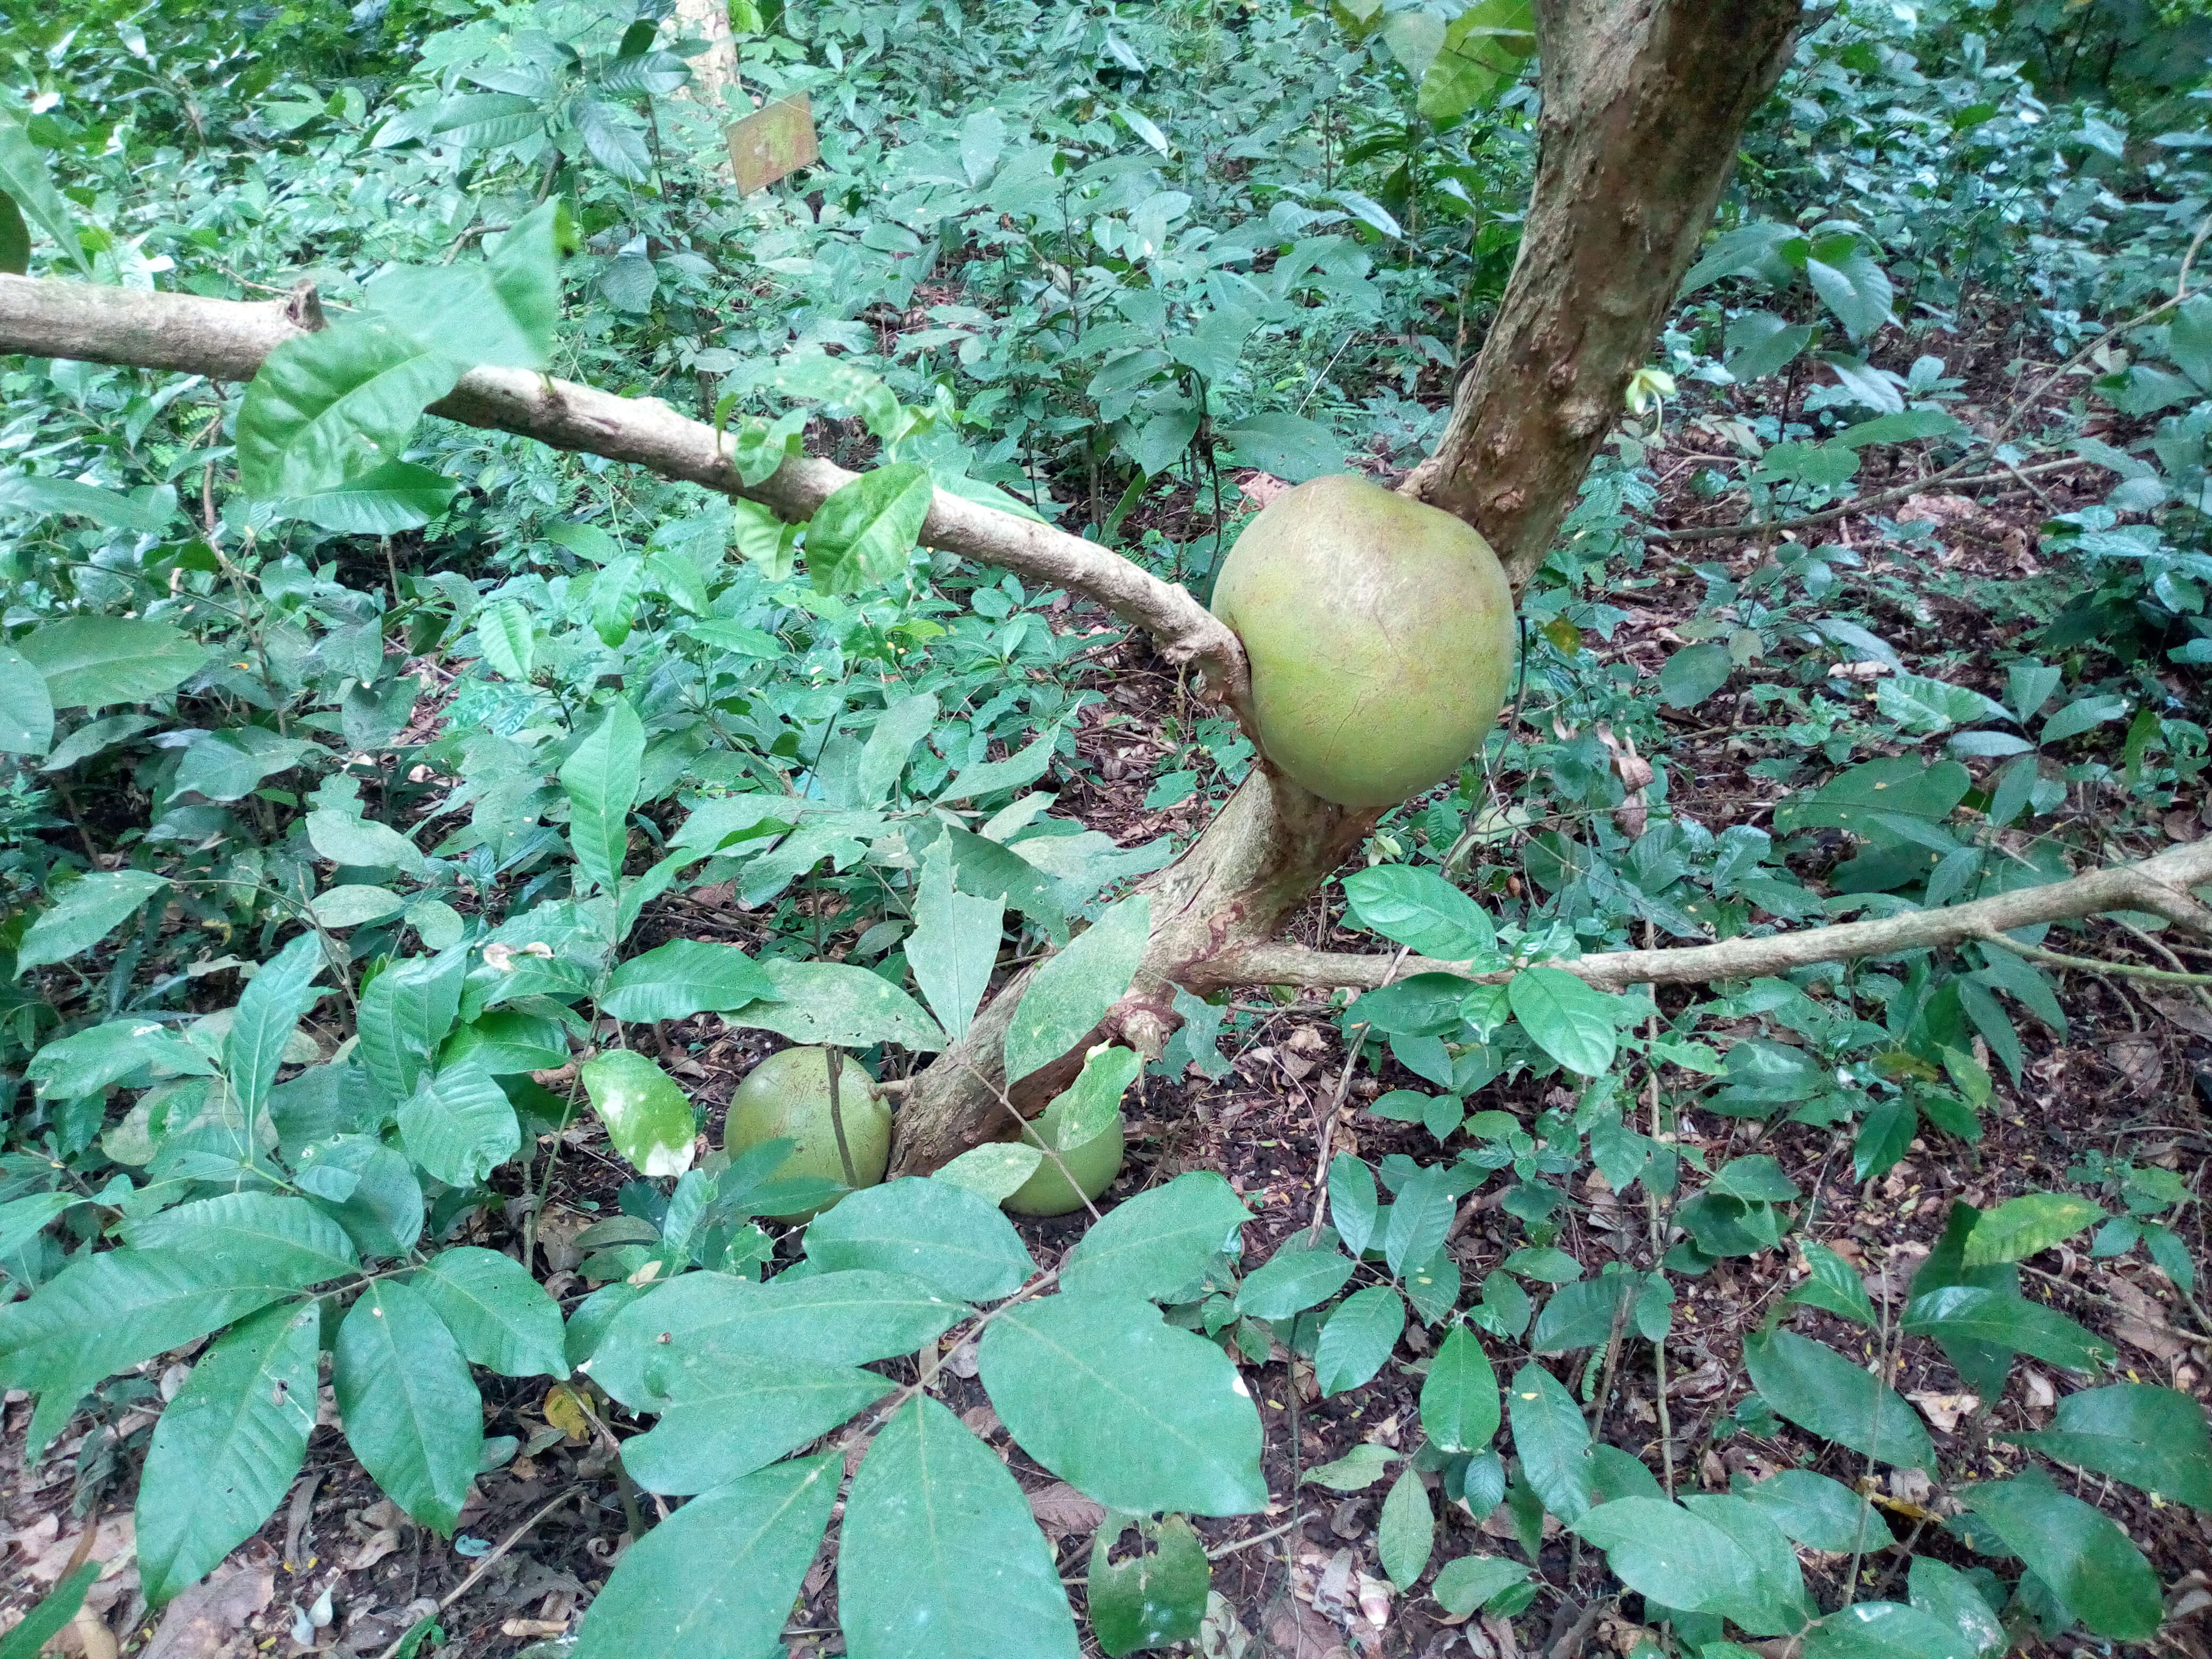
[[[321,1332],[312,1301],[254,1314],[199,1356],[161,1411],[137,1495],[153,1606],[212,1573],[292,1486],[314,1429]]]

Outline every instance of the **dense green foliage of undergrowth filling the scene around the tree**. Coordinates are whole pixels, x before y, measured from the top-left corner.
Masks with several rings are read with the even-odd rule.
[[[1820,1241],[1818,1192],[1759,1150],[1705,1168],[1672,1133],[1690,1108],[1834,1126],[1856,1183],[1916,1137],[1971,1157],[2022,1029],[2064,1033],[2048,969],[1991,940],[1661,1006],[1546,964],[2053,880],[2197,796],[2212,296],[2168,303],[2203,281],[2183,265],[2212,195],[2201,64],[2168,62],[2197,20],[1845,4],[1805,38],[1522,599],[1524,719],[1389,814],[1332,894],[1378,940],[1511,973],[1332,1006],[1352,1053],[1427,1084],[1371,1110],[1433,1155],[1338,1155],[1329,1225],[1270,1261],[1243,1259],[1228,1181],[1188,1172],[1108,1203],[1040,1274],[995,1206],[1113,1130],[1128,1048],[1086,1057],[1057,1146],[845,1194],[783,1175],[787,1141],[701,1157],[655,1029],[712,1013],[902,1077],[1006,969],[1064,947],[1009,1031],[1018,1079],[1126,991],[1150,920],[1128,889],[1175,836],[1119,847],[1037,787],[1084,765],[1079,719],[1130,719],[1093,708],[1084,657],[1113,639],[1068,595],[916,549],[929,487],[1203,595],[1228,469],[1411,465],[1511,270],[1528,13],[734,11],[743,84],[810,93],[823,139],[821,166],[743,199],[719,113],[684,95],[699,42],[650,7],[177,0],[0,42],[0,190],[24,226],[11,243],[0,221],[0,254],[228,299],[307,276],[332,316],[243,389],[0,363],[0,1270],[22,1292],[0,1383],[38,1396],[33,1455],[95,1413],[86,1502],[113,1453],[142,1467],[148,1599],[283,1500],[330,1354],[347,1444],[440,1533],[518,1453],[482,1431],[487,1374],[586,1400],[626,1480],[688,1498],[622,1555],[577,1652],[677,1630],[686,1652],[770,1648],[838,1453],[865,1444],[847,1650],[1073,1655],[1022,1491],[927,1391],[938,1338],[980,1327],[1006,1431],[1115,1511],[1088,1628],[1106,1652],[1159,1646],[1206,1601],[1179,1515],[1270,1504],[1241,1371],[1296,1356],[1323,1396],[1360,1389],[1411,1318],[1420,1438],[1307,1471],[1391,1478],[1380,1562],[1402,1593],[1526,1610],[1551,1515],[1705,1659],[1807,1628],[1827,1659],[2150,1637],[2159,1584],[2119,1524],[2035,1469],[1958,1484],[1889,1383],[1907,1345],[1984,1400],[2020,1356],[2095,1380],[2024,1442],[2212,1511],[2201,1407],[2108,1383],[2112,1349],[2015,1267],[2101,1221],[2093,1252],[2141,1250],[2188,1290],[2188,1186],[2099,1155],[2073,1179],[2112,1210],[1960,1203],[1909,1298],[1876,1310]],[[2008,369],[1966,385],[1966,354]],[[425,420],[471,365],[728,425],[752,482],[801,442],[865,471],[783,526]],[[1650,526],[1674,456],[1717,524],[1814,522],[1697,566],[1652,697],[1615,646],[1661,566],[1697,557]],[[1909,515],[1947,478],[2053,460],[2095,487],[2053,515],[2033,580],[1947,568]],[[1807,540],[1860,498],[1882,568]],[[1969,641],[1905,670],[1893,641],[1933,602],[2006,624],[2002,684],[1949,672]],[[1666,717],[1694,708],[1756,739],[1750,774],[1787,790],[1770,827],[1670,807]],[[1252,763],[1225,717],[1164,734],[1155,812]],[[661,902],[688,889],[745,907],[745,949],[672,936]],[[1250,1013],[1175,1006],[1155,1075],[1219,1075]],[[1553,1104],[1478,1099],[1528,1079]],[[538,1217],[602,1133],[637,1179],[555,1301]],[[1637,1267],[1564,1248],[1593,1170],[1648,1214]],[[1462,1283],[1447,1232],[1493,1181],[1520,1245]],[[803,1243],[763,1225],[816,1206]],[[1891,1542],[1851,1484],[1803,1469],[1677,1500],[1672,1455],[1655,1471],[1593,1438],[1624,1338],[1661,1343],[1683,1283],[1778,1272],[1778,1250],[1805,1272],[1717,1433],[1781,1420],[1845,1449],[1851,1480],[1927,1471],[1942,1553],[1971,1564],[1922,1551],[1885,1579],[1905,1599],[1807,1590],[1796,1544],[1856,1566]],[[1790,1327],[1805,1307],[1825,1340]],[[113,1444],[155,1398],[144,1363],[208,1336]],[[1520,1555],[1484,1537],[1431,1559],[1440,1500],[1504,1502]],[[1113,1559],[1130,1526],[1155,1575]]]

